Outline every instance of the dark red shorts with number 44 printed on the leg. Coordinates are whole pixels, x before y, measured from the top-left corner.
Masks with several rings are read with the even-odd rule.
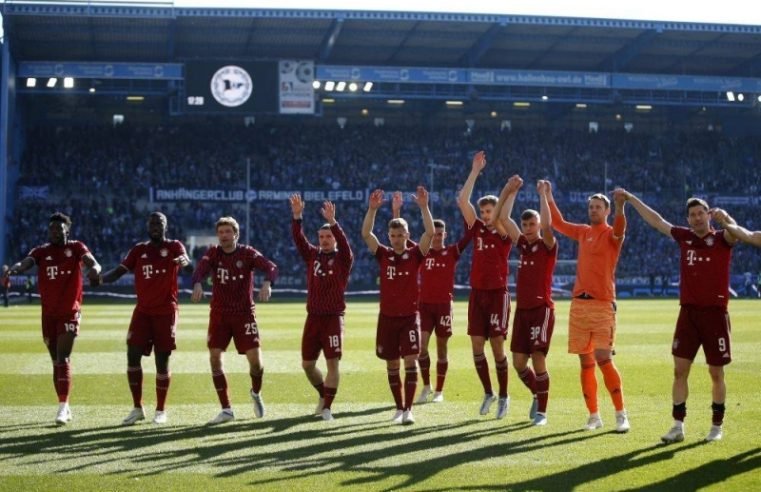
[[[506,337],[510,317],[510,295],[503,289],[471,289],[468,302],[468,335]]]

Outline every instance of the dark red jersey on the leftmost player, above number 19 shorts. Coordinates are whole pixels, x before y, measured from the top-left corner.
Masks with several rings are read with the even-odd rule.
[[[80,241],[61,246],[43,244],[29,252],[37,264],[42,313],[67,316],[82,305],[82,257],[89,253]]]

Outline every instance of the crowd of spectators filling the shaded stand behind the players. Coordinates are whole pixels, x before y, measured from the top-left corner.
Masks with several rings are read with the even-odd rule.
[[[253,190],[361,191],[383,188],[411,192],[431,187],[435,217],[449,224],[450,238],[463,233],[456,190],[469,170],[474,151],[484,149],[487,168],[476,195],[498,193],[512,174],[525,180],[516,209],[535,208],[533,183],[550,179],[561,210],[569,220],[586,221],[586,194],[616,186],[642,194],[674,224],[685,224],[684,203],[694,194],[745,197],[726,206],[739,222],[753,220],[761,180],[758,139],[727,138],[719,133],[648,135],[621,132],[584,133],[559,130],[462,129],[420,127],[318,126],[314,122],[260,127],[219,122],[176,126],[76,127],[30,129],[20,163],[14,212],[10,218],[10,256],[23,257],[46,241],[45,221],[53,211],[71,215],[72,237],[85,241],[107,268],[117,264],[137,241],[145,240],[149,212],[169,216],[170,235],[188,242],[213,236],[213,224],[233,215],[245,224],[243,202],[152,202],[152,189],[245,190],[250,162]],[[435,164],[435,166],[431,166]],[[432,170],[433,169],[433,170]],[[25,197],[26,187],[47,187]],[[581,198],[579,198],[581,197]],[[741,200],[742,201],[742,200]],[[738,202],[739,203],[739,202]],[[319,203],[308,202],[308,234],[321,224]],[[287,199],[250,204],[253,246],[281,266],[283,283],[303,286],[303,265],[289,233]],[[377,267],[360,237],[365,200],[337,202],[338,218],[348,231],[356,264],[351,288],[376,284]],[[403,215],[414,236],[422,232],[419,212],[409,203]],[[517,216],[517,213],[514,214]],[[647,227],[629,209],[629,229],[619,263],[619,277],[641,279],[678,275],[678,251],[668,238]],[[390,207],[379,214],[376,234],[384,239]],[[573,259],[572,241],[561,239],[561,259]],[[193,255],[205,249],[196,244]],[[457,282],[467,284],[469,253],[460,262]],[[761,255],[747,247],[734,253],[733,273],[757,274]],[[572,274],[572,268],[563,273]]]

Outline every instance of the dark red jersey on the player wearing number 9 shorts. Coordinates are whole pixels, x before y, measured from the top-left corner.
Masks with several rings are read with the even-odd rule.
[[[723,306],[729,303],[729,262],[732,246],[724,231],[700,238],[686,227],[672,227],[679,243],[679,303],[683,306]]]

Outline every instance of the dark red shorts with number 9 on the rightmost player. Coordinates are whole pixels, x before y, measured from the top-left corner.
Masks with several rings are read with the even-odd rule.
[[[682,306],[676,321],[671,354],[695,360],[700,346],[710,366],[725,366],[732,362],[729,313],[720,306]]]

